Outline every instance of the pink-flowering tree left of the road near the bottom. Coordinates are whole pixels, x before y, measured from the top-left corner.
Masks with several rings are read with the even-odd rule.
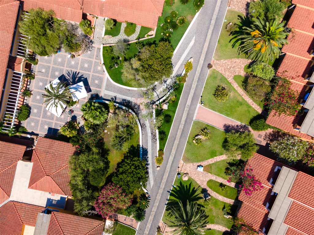
[[[126,209],[132,203],[132,196],[113,183],[106,185],[95,202],[95,209],[103,218],[112,216],[118,209]]]

